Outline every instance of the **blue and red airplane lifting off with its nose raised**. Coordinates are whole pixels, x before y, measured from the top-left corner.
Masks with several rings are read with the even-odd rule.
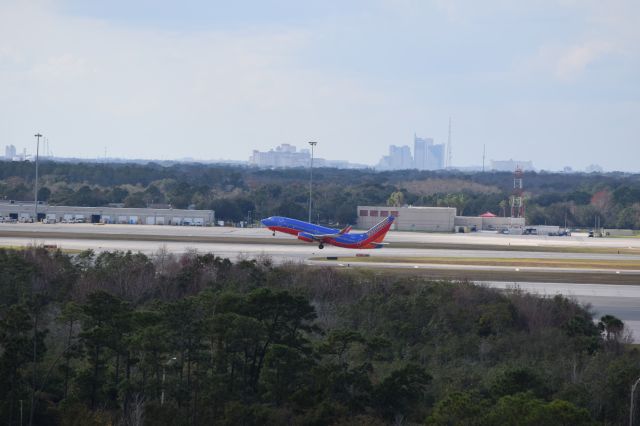
[[[271,216],[260,222],[273,231],[274,236],[276,231],[295,235],[299,240],[318,243],[319,249],[323,249],[325,244],[353,249],[374,249],[382,248],[387,244],[382,240],[395,219],[393,216],[388,216],[368,231],[354,234],[349,233],[351,226],[343,229],[327,228],[282,216]]]

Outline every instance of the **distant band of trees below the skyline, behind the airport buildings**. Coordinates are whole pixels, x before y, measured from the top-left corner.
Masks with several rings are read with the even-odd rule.
[[[0,162],[0,199],[33,200],[35,168]],[[171,205],[212,209],[228,223],[271,215],[304,219],[308,169],[206,164],[43,161],[38,199],[52,205]],[[513,174],[455,170],[314,170],[314,220],[354,224],[358,205],[456,207],[459,215],[510,214]],[[527,172],[527,223],[640,230],[640,175]]]

